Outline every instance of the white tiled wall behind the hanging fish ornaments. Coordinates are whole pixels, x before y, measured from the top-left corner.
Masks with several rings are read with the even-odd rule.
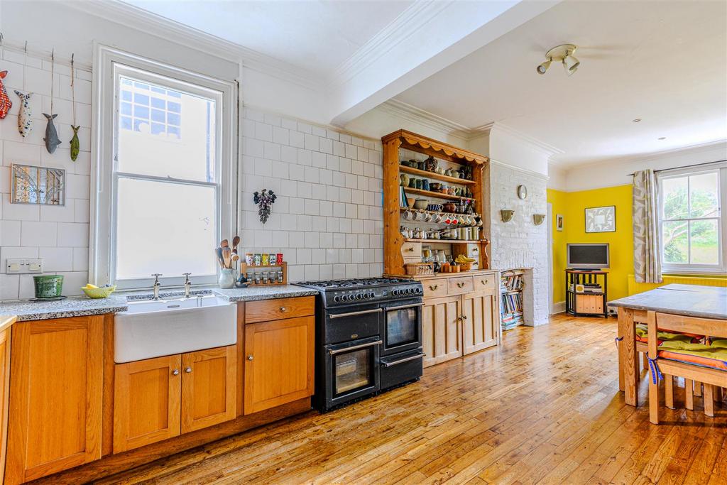
[[[0,49],[0,69],[12,100],[8,115],[0,120],[0,300],[33,297],[30,275],[4,273],[8,257],[42,257],[45,273],[62,274],[64,294],[79,294],[87,282],[89,246],[89,173],[91,169],[91,73],[76,70],[76,122],[81,125],[81,153],[71,161],[71,69],[56,65],[53,76],[55,126],[62,144],[50,154],[43,137],[50,112],[51,66],[46,60]],[[33,131],[17,131],[20,98],[14,90],[33,92]],[[10,204],[10,165],[27,164],[65,169],[65,207]]]

